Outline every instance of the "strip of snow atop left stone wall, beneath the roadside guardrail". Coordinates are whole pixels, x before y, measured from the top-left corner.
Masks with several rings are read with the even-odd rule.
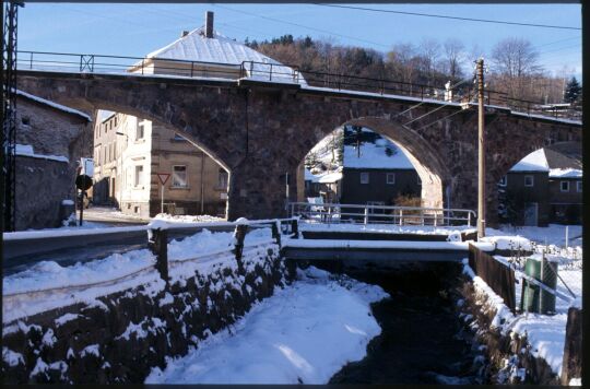
[[[246,235],[245,255],[255,246],[273,245],[270,228]],[[168,244],[170,283],[182,282],[194,272],[209,274],[221,267],[237,268],[232,252],[233,233],[208,229]],[[114,254],[103,259],[61,267],[43,261],[4,278],[3,321],[32,316],[76,303],[98,304],[96,298],[139,285],[163,287],[155,270],[155,256],[148,249]],[[73,291],[75,290],[75,293]]]

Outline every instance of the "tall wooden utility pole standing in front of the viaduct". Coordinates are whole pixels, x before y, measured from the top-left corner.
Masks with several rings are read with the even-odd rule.
[[[477,60],[477,238],[485,236],[485,117],[483,58]]]

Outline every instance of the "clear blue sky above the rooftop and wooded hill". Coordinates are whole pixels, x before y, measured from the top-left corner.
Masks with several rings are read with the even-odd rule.
[[[378,9],[581,27],[579,4],[361,4]],[[283,34],[387,51],[397,43],[461,39],[484,55],[506,37],[529,39],[540,63],[581,78],[581,31],[463,22],[334,9],[314,4],[75,4],[26,3],[20,10],[19,49],[143,57],[215,12],[215,30],[244,40]],[[263,19],[266,16],[278,21]],[[296,25],[295,25],[296,24]]]

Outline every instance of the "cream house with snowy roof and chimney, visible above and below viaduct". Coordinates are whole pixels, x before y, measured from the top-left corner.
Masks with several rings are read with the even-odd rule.
[[[213,13],[208,12],[203,27],[182,32],[177,40],[149,54],[128,71],[238,79],[267,76],[271,64],[273,80],[305,82],[293,69],[215,32]],[[164,185],[164,212],[226,215],[228,172],[173,130],[115,113],[96,126],[94,142],[93,202],[113,203],[142,217],[154,216],[162,211],[158,177],[169,175]]]

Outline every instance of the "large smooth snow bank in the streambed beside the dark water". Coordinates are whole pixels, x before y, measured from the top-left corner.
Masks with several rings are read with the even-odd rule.
[[[154,368],[146,384],[327,384],[366,355],[381,332],[370,303],[379,286],[338,281],[309,268],[299,280],[257,304],[235,326],[185,357]]]

